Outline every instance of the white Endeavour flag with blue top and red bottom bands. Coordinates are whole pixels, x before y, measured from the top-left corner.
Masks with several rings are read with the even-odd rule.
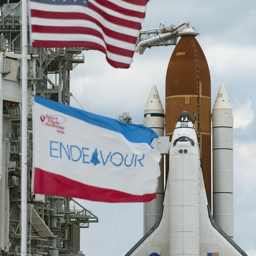
[[[33,102],[33,192],[102,202],[156,198],[161,155],[151,129],[39,96]]]

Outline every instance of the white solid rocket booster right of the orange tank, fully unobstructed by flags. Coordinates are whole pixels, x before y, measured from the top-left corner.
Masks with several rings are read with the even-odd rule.
[[[233,116],[224,84],[212,108],[213,218],[233,238]]]

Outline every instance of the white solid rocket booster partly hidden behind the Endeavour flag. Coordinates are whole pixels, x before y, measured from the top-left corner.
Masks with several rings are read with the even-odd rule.
[[[164,136],[164,108],[156,85],[152,86],[144,109],[143,125],[151,128],[158,136]],[[161,174],[158,177],[156,199],[144,203],[144,234],[156,224],[162,211],[164,201],[164,159],[160,163]]]

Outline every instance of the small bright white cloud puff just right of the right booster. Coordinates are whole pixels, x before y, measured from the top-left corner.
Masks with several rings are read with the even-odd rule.
[[[251,100],[246,100],[244,103],[237,102],[233,117],[234,128],[245,128],[251,124],[254,117]]]

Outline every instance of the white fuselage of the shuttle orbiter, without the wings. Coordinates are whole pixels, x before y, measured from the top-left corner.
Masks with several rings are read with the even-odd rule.
[[[192,122],[177,122],[169,156],[170,254],[199,256],[200,155]]]

